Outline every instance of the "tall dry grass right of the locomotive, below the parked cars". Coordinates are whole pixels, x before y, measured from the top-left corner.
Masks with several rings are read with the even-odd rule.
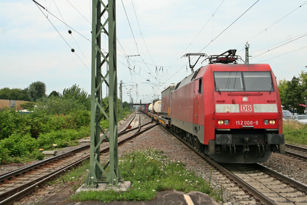
[[[307,124],[284,121],[283,134],[287,144],[307,144]]]

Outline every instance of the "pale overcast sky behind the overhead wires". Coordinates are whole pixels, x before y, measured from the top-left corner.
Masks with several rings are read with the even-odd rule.
[[[43,81],[48,95],[74,84],[90,94],[91,1],[37,2],[50,13],[32,0],[0,0],[0,89]],[[245,60],[247,41],[250,63],[268,63],[277,80],[307,71],[305,0],[118,0],[116,12],[123,101],[129,102],[130,94],[134,102],[161,98],[164,88],[191,73],[188,58],[181,58],[185,53],[237,49]],[[102,34],[106,51],[107,43]],[[195,69],[207,65],[203,60]]]

